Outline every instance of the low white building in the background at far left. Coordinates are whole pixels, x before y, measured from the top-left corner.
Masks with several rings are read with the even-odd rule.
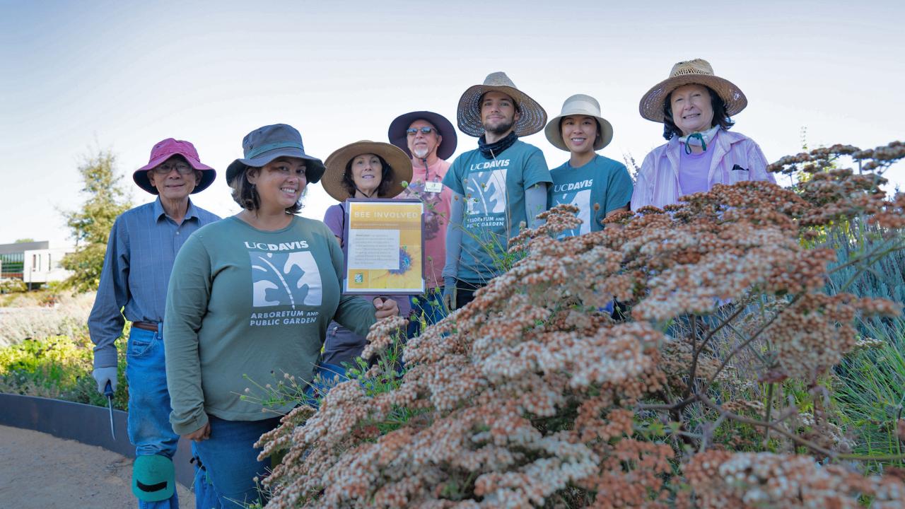
[[[44,283],[62,281],[70,272],[60,265],[72,252],[66,245],[50,241],[0,244],[0,279],[16,279],[34,289]]]

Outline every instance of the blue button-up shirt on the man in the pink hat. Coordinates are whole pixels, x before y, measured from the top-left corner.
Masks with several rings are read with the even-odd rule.
[[[117,217],[110,230],[98,296],[88,317],[95,368],[116,366],[114,341],[122,335],[126,320],[163,322],[176,253],[195,230],[218,220],[219,216],[189,200],[186,217],[177,225],[167,216],[159,197]]]

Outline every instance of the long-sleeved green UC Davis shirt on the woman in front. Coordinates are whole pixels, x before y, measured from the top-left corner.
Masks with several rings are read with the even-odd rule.
[[[340,294],[342,267],[336,237],[305,217],[276,231],[227,217],[189,237],[176,255],[164,322],[174,430],[195,431],[205,414],[271,417],[241,398],[245,388],[275,384],[283,373],[310,380],[330,320],[367,334],[374,306]]]

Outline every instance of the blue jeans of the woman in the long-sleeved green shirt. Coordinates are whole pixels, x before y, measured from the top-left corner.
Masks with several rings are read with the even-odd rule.
[[[264,433],[280,426],[280,418],[225,420],[211,415],[207,418],[211,424],[211,437],[196,442],[195,449],[220,507],[242,509],[259,501],[265,504],[267,500],[258,491],[258,486],[262,477],[268,474],[271,460],[258,461],[261,450],[254,448],[254,443]]]

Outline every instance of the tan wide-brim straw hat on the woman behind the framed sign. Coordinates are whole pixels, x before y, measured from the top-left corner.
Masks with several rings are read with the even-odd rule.
[[[333,199],[343,202],[352,197],[342,183],[343,175],[346,174],[348,161],[361,154],[376,154],[384,158],[386,164],[392,168],[389,178],[393,180],[393,184],[386,189],[386,194],[382,198],[395,197],[405,189],[402,185],[403,182],[411,182],[412,159],[402,149],[389,143],[363,139],[336,149],[324,161],[324,166],[327,170],[324,172],[323,178],[320,179],[320,185],[324,187],[324,190]]]

